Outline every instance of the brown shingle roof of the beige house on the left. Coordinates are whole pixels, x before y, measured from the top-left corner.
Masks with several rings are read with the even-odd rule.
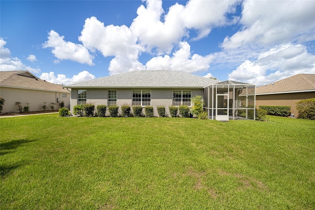
[[[70,93],[62,85],[39,79],[29,71],[0,71],[0,87]]]

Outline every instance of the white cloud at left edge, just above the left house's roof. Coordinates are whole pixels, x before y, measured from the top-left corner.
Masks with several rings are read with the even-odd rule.
[[[0,70],[12,71],[12,70],[28,70],[32,73],[39,73],[40,69],[34,69],[26,66],[17,57],[11,57],[11,52],[8,48],[4,47],[6,41],[0,38]]]

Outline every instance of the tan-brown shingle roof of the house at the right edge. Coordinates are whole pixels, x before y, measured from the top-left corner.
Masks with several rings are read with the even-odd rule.
[[[256,95],[315,91],[315,74],[297,74],[256,88]]]

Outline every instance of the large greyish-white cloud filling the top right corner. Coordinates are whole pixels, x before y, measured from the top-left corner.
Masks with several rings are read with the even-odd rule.
[[[243,2],[240,23],[244,29],[225,37],[224,49],[249,45],[277,45],[284,42],[303,43],[315,39],[314,1]]]

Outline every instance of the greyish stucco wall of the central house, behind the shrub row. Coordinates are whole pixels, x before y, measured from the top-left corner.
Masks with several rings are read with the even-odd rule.
[[[81,89],[80,89],[81,90]],[[132,90],[151,90],[151,105],[154,107],[154,114],[158,116],[158,105],[164,105],[167,114],[169,114],[168,107],[172,105],[173,90],[191,90],[191,97],[196,95],[202,96],[202,89],[152,89],[152,88],[134,88],[134,89],[85,89],[87,90],[87,103],[94,103],[97,105],[108,105],[108,90],[117,91],[117,105],[121,107],[123,104],[131,105]],[[78,89],[71,90],[71,113],[73,106],[78,103]]]

